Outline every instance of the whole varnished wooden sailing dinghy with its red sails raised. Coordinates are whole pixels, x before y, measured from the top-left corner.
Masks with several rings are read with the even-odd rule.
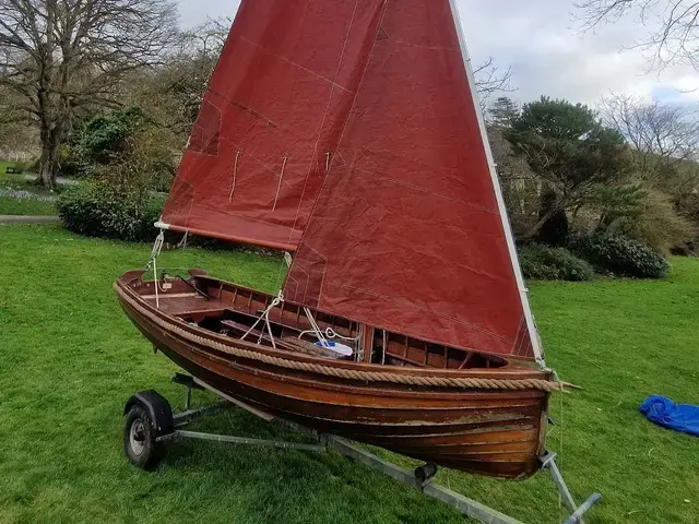
[[[116,290],[252,409],[518,479],[561,384],[457,20],[453,0],[244,0],[159,226],[293,253],[282,291],[199,271]]]

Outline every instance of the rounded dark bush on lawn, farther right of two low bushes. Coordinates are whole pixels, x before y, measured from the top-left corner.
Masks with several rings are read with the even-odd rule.
[[[570,250],[599,271],[636,278],[663,278],[670,264],[664,257],[638,240],[615,235],[578,237]]]

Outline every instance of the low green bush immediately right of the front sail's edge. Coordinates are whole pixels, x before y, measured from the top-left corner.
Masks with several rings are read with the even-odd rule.
[[[542,281],[589,281],[592,266],[564,248],[532,243],[520,249],[520,264],[525,278]]]

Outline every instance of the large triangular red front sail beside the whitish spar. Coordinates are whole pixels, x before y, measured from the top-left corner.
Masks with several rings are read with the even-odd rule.
[[[384,3],[284,293],[425,341],[531,359],[534,325],[454,16],[450,0]]]

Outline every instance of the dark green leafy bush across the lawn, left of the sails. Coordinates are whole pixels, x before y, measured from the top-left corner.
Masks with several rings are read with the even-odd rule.
[[[149,192],[120,191],[99,182],[74,184],[58,199],[67,229],[91,237],[152,241],[165,200]]]

